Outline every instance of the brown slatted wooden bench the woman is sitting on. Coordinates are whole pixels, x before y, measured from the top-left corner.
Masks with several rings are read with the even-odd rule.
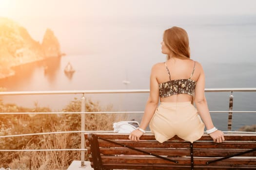
[[[228,133],[223,143],[204,134],[193,144],[177,136],[159,143],[151,133],[139,142],[118,133],[85,138],[94,170],[256,170],[256,134]]]

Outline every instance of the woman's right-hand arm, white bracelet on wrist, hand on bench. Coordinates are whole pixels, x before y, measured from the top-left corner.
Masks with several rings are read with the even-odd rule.
[[[205,76],[204,76],[204,71],[202,66],[197,63],[197,69],[200,70],[200,75],[199,78],[197,80],[197,85],[196,85],[196,89],[195,89],[195,103],[197,106],[197,111],[201,117],[201,119],[203,120],[206,129],[210,130],[212,128],[214,128],[214,124],[213,121],[211,119],[211,115],[209,113],[209,109],[208,109],[208,105],[207,105],[207,101],[204,95],[204,85],[205,85]],[[222,142],[223,140],[225,140],[224,135],[221,131],[217,130],[215,132],[212,132],[209,134],[213,140],[217,143]]]

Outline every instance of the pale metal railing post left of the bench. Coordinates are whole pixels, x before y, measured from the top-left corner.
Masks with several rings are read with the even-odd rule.
[[[84,93],[83,96],[81,98],[81,112],[85,112],[85,98],[84,98]],[[81,131],[85,131],[85,114],[81,113]],[[85,149],[84,148],[84,133],[81,133],[81,149]],[[85,156],[85,151],[81,151],[81,167],[84,167],[84,156]]]

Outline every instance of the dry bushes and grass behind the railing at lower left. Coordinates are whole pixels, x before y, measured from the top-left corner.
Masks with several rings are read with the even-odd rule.
[[[111,106],[102,109],[98,102],[86,100],[87,112],[110,111]],[[63,112],[80,112],[81,102],[71,101]],[[19,107],[15,104],[4,104],[0,101],[0,112],[51,112],[49,108]],[[113,130],[115,114],[86,114],[86,130]],[[41,132],[79,131],[80,114],[36,114],[36,115],[3,115],[0,119],[0,136],[14,134],[32,134]],[[40,136],[23,136],[1,138],[0,149],[79,149],[80,134],[53,134]],[[62,170],[67,169],[73,160],[80,159],[76,151],[48,152],[1,152],[0,167],[22,170]]]

